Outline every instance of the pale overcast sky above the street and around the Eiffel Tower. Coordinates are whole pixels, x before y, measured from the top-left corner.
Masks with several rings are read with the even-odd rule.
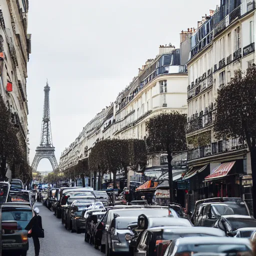
[[[27,98],[30,164],[39,145],[43,86],[50,86],[55,156],[137,75],[159,44],[179,47],[179,32],[219,0],[29,0]],[[42,159],[37,170],[52,170]]]

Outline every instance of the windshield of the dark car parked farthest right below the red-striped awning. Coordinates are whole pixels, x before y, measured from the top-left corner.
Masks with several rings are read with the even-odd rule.
[[[217,215],[249,215],[244,203],[228,203],[228,204],[213,204],[211,205],[212,211]]]

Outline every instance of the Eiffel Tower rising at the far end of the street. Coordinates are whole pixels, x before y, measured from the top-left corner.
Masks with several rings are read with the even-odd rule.
[[[44,86],[44,104],[43,104],[43,116],[41,127],[40,145],[35,149],[35,155],[32,162],[32,168],[36,171],[39,161],[42,158],[49,159],[53,171],[58,168],[58,164],[55,158],[55,147],[52,145],[51,129],[50,129],[50,107],[49,107],[49,91],[48,80],[46,86]]]

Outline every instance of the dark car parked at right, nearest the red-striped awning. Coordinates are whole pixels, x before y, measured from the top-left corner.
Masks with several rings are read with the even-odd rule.
[[[241,198],[209,198],[196,201],[191,221],[198,226],[213,226],[221,215],[250,215]]]

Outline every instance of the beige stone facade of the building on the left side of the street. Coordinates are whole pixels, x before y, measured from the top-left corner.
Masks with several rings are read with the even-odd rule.
[[[0,95],[12,113],[12,121],[18,124],[27,142],[27,62],[30,53],[30,35],[27,35],[28,0],[2,0],[0,5]],[[6,91],[7,82],[12,91]],[[15,115],[14,115],[15,114]],[[28,160],[28,155],[27,155]]]

